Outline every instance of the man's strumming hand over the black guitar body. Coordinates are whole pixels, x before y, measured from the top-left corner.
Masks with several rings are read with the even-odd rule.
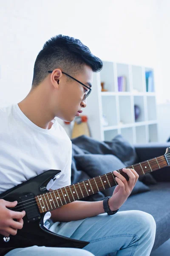
[[[15,212],[9,208],[15,207],[17,201],[8,202],[0,199],[0,234],[3,236],[16,235],[18,229],[23,227],[23,217],[26,212]],[[16,219],[17,221],[14,221]]]

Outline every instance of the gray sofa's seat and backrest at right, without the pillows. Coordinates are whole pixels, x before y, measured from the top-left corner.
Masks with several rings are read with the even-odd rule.
[[[138,162],[165,154],[170,143],[149,143],[135,145]],[[153,250],[170,239],[170,167],[152,172],[151,175],[157,181],[148,185],[150,191],[130,196],[120,210],[142,210],[153,215],[156,221],[156,239]]]

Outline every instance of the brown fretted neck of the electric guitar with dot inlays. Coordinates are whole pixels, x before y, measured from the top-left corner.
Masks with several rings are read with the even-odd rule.
[[[169,163],[166,155],[162,155],[160,157],[155,157],[126,168],[134,169],[140,176],[156,171],[168,165]],[[122,171],[122,169],[117,171],[128,180],[128,176]],[[113,175],[113,172],[109,172],[89,180],[84,180],[73,185],[63,187],[61,189],[53,190],[52,192],[38,195],[35,197],[37,206],[40,213],[51,211],[61,207],[62,205],[85,198],[88,195],[93,195],[99,191],[117,185],[115,177],[116,176]]]

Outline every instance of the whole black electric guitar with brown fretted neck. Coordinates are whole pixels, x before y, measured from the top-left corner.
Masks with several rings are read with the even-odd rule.
[[[142,163],[137,163],[126,168],[133,168],[139,175],[145,175],[170,165],[170,148],[166,149],[164,155],[155,157]],[[49,231],[43,225],[43,215],[65,204],[93,195],[104,189],[117,185],[113,172],[100,175],[89,180],[81,181],[70,186],[49,192],[46,189],[51,178],[59,174],[59,170],[48,170],[30,180],[15,186],[0,194],[0,198],[6,201],[17,200],[18,204],[14,211],[26,211],[23,218],[24,224],[16,236],[4,238],[0,235],[0,248],[17,248],[28,246],[47,247],[76,247],[83,248],[89,242],[71,239],[57,235]],[[118,172],[128,180],[127,174],[122,169]],[[8,242],[5,242],[8,241]]]

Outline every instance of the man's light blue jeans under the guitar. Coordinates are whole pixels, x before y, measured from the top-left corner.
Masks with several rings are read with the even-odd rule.
[[[78,256],[82,253],[85,256],[92,255],[89,253],[95,256],[149,256],[156,233],[156,223],[152,215],[136,210],[117,212],[110,216],[103,213],[91,218],[62,223],[48,220],[45,226],[59,235],[90,243],[83,250],[72,248],[74,252],[71,248],[28,247],[14,249],[6,256],[30,256],[30,253],[36,256]],[[47,250],[44,249],[43,254],[43,249],[39,252],[37,248]],[[23,254],[20,250],[24,250]],[[53,253],[51,250],[54,250]]]

